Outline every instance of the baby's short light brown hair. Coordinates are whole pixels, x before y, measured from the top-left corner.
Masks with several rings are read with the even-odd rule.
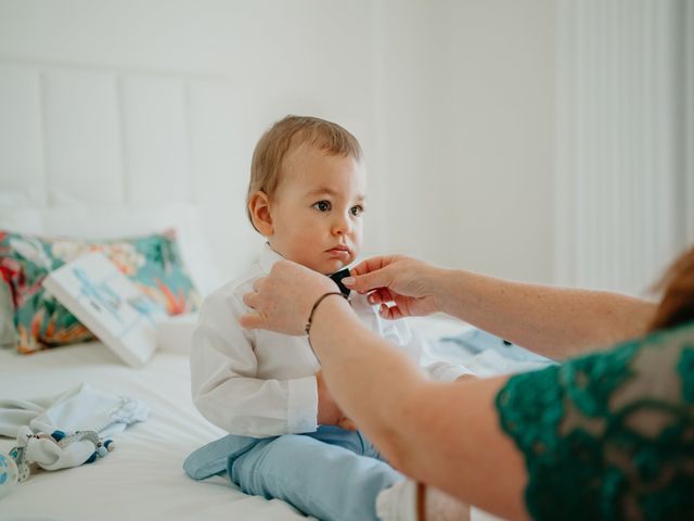
[[[256,191],[272,198],[280,181],[284,157],[301,144],[310,144],[330,155],[351,156],[361,161],[359,141],[336,123],[311,116],[288,115],[268,129],[253,152],[250,181],[246,194],[246,213],[253,224],[248,203]]]

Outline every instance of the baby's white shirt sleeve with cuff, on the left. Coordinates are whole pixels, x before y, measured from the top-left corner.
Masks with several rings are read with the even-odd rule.
[[[191,348],[193,402],[232,434],[267,437],[318,429],[316,377],[258,379],[254,333],[239,325],[240,298],[222,290],[203,303]]]

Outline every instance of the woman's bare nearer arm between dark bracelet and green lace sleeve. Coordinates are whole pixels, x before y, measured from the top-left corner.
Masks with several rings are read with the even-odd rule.
[[[391,465],[490,512],[525,516],[523,460],[493,406],[505,379],[429,382],[340,298],[317,309],[310,340],[332,395]]]

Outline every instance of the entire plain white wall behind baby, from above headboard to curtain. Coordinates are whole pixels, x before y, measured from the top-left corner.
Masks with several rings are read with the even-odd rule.
[[[362,141],[367,251],[552,280],[552,0],[0,0],[0,56],[229,78],[233,160],[197,194],[222,268],[256,139],[308,113]]]

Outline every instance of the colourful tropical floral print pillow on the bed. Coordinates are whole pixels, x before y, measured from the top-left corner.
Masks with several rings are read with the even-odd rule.
[[[94,335],[43,290],[46,276],[89,252],[102,252],[169,315],[190,313],[200,295],[188,276],[174,230],[151,236],[90,242],[0,231],[0,342],[20,353],[86,342]]]

